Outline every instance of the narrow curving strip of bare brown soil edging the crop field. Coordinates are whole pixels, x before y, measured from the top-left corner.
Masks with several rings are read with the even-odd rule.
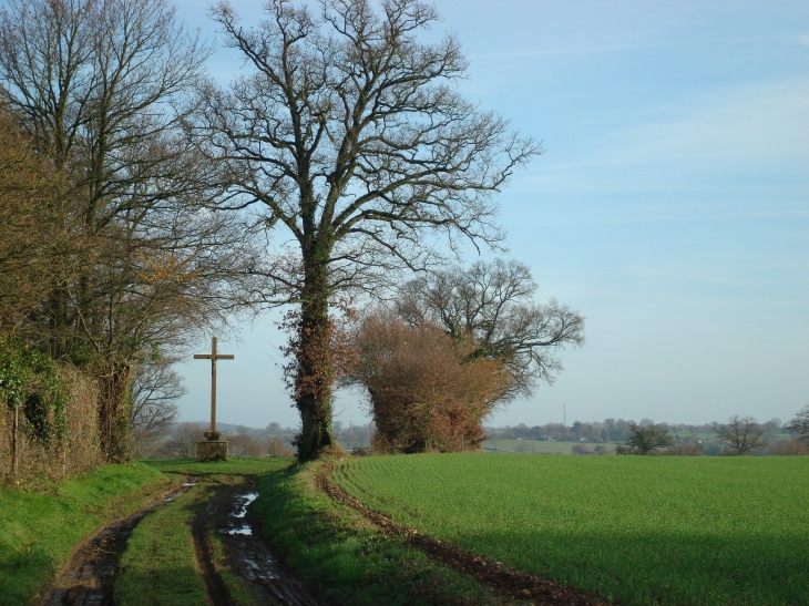
[[[369,510],[358,499],[334,484],[329,480],[330,475],[331,464],[327,463],[324,465],[322,473],[316,477],[318,489],[330,499],[354,507],[382,533],[402,537],[408,545],[420,549],[428,557],[451,566],[461,573],[474,576],[479,583],[495,588],[502,595],[543,606],[610,605],[608,602],[594,595],[577,592],[553,581],[511,568],[500,562],[492,562],[468,549],[461,549],[450,543],[421,534],[414,528],[396,524],[389,517]]]

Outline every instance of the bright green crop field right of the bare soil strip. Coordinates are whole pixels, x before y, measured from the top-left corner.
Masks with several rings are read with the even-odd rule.
[[[809,458],[378,456],[369,507],[629,605],[809,604]]]

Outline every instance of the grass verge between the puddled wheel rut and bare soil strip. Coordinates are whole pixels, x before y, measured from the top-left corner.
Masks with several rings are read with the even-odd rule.
[[[510,604],[319,492],[315,474],[321,464],[260,475],[250,509],[259,532],[299,578],[335,603],[354,606]]]

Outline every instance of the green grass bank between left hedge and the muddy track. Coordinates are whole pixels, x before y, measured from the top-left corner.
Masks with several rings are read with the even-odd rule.
[[[0,489],[0,604],[34,603],[73,547],[167,487],[158,471],[106,465],[42,492]]]

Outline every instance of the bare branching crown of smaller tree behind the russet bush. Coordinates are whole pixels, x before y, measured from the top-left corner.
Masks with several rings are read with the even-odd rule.
[[[469,360],[503,363],[511,378],[503,399],[529,396],[536,381],[552,383],[562,370],[556,352],[584,342],[584,319],[554,299],[536,305],[536,284],[515,260],[478,261],[407,283],[397,299],[412,325],[434,322],[455,341],[470,341]]]

